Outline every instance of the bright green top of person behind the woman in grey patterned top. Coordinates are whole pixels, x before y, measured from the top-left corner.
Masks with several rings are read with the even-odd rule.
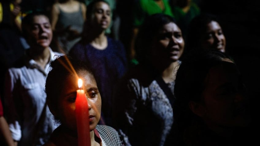
[[[164,4],[164,10],[162,10],[159,5],[154,0],[140,0],[133,11],[133,25],[138,27],[143,24],[145,17],[155,14],[155,13],[164,13],[174,17],[174,14],[171,11],[168,0],[162,0]]]

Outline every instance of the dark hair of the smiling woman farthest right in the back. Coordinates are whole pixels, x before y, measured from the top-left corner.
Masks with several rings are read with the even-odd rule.
[[[220,20],[217,19],[215,15],[209,13],[202,13],[192,19],[188,26],[187,33],[187,43],[186,51],[192,49],[202,49],[201,48],[201,35],[205,33],[207,25],[211,21],[216,21],[219,23]]]

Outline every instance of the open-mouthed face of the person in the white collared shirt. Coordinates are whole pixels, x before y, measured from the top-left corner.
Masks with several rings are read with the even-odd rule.
[[[49,47],[52,41],[52,28],[48,17],[34,16],[32,25],[27,28],[27,41],[30,46]]]

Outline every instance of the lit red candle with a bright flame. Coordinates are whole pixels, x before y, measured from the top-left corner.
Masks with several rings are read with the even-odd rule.
[[[78,146],[90,146],[89,109],[85,91],[82,90],[82,80],[78,79],[78,90],[75,101],[76,121],[78,130]]]

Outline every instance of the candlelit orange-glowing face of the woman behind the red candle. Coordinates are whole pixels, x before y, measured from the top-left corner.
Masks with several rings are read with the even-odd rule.
[[[83,81],[82,89],[85,90],[88,100],[90,130],[93,130],[97,126],[101,115],[101,96],[93,75],[84,70],[80,71],[78,76]],[[76,90],[78,90],[78,78],[75,75],[69,76],[65,83],[59,97],[57,115],[55,116],[60,119],[63,126],[76,131],[75,100]]]

